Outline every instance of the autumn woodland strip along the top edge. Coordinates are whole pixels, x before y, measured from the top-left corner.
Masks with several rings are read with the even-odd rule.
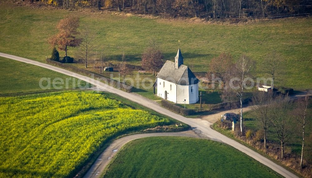
[[[64,8],[131,10],[140,14],[173,18],[261,18],[309,13],[312,10],[312,2],[309,0],[42,0],[42,2]]]

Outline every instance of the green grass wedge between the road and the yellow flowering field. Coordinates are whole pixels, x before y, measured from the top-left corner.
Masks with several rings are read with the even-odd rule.
[[[78,88],[78,79],[74,77],[3,57],[0,57],[0,71],[0,94],[53,90],[60,87],[62,89]],[[50,78],[50,85],[48,85],[47,80],[44,80],[42,82],[43,88],[41,88],[39,85],[41,78]],[[64,83],[55,85],[55,88],[53,87],[53,80],[57,78],[61,78]],[[68,80],[67,85],[66,78],[71,79]],[[75,82],[73,83],[73,81]],[[85,81],[80,81],[79,84],[81,88],[91,87],[91,84],[87,84]],[[47,86],[49,88],[46,88]]]

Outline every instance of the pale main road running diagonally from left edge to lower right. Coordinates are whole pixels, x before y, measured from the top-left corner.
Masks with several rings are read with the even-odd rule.
[[[33,61],[33,60],[22,58],[22,57],[13,56],[13,55],[5,54],[5,53],[0,53],[0,56],[6,57],[9,59],[13,59],[16,61],[25,62],[25,63],[33,64],[36,66],[44,67],[44,68],[50,69],[52,71],[60,72],[62,74],[66,74],[68,76],[76,77],[80,80],[89,82],[89,83],[91,83],[97,87],[100,87],[101,89],[103,89],[105,91],[123,96],[124,98],[127,98],[131,101],[137,102],[137,103],[139,103],[145,107],[148,107],[154,111],[157,111],[163,115],[166,115],[166,116],[172,117],[178,121],[184,122],[184,123],[190,125],[195,132],[199,132],[199,133],[209,137],[212,140],[220,141],[220,142],[223,142],[223,143],[226,143],[228,145],[235,147],[236,149],[246,153],[248,156],[251,156],[255,160],[257,160],[257,161],[261,162],[262,164],[270,167],[271,169],[278,172],[279,174],[281,174],[284,177],[297,177],[293,173],[291,173],[290,171],[287,171],[285,168],[275,164],[273,161],[267,159],[266,157],[261,156],[260,154],[256,153],[255,151],[252,151],[251,149],[247,148],[246,146],[243,146],[240,143],[222,135],[221,133],[214,131],[212,128],[210,128],[211,123],[208,121],[205,121],[202,119],[190,119],[190,118],[183,117],[183,116],[178,115],[172,111],[164,109],[155,101],[144,98],[143,96],[138,96],[134,93],[127,93],[127,92],[121,91],[117,88],[109,86],[109,85],[107,85],[103,82],[100,82],[98,80],[95,80],[91,77],[86,77],[86,76],[77,74],[75,72],[71,72],[71,71],[68,71],[65,69],[61,69],[59,67],[51,66],[49,64],[45,64],[45,63]]]

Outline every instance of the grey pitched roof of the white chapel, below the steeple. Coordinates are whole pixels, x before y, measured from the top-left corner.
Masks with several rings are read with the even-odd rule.
[[[179,85],[191,85],[199,82],[187,66],[182,64],[178,69],[174,66],[174,62],[167,61],[156,77]]]

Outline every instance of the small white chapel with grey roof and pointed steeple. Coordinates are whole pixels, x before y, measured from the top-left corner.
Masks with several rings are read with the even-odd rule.
[[[157,96],[179,104],[198,101],[198,82],[193,72],[183,65],[183,56],[178,49],[175,62],[166,61],[156,76],[154,87]]]

